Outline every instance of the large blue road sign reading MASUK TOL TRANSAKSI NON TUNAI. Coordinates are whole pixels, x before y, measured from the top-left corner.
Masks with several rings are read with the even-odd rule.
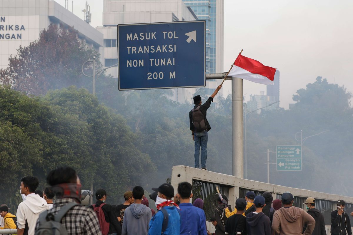
[[[206,21],[118,25],[119,90],[204,87]]]

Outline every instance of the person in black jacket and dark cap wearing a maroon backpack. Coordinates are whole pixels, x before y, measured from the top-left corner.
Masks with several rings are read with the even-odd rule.
[[[104,218],[106,222],[109,224],[108,235],[120,235],[121,234],[121,227],[118,222],[118,218],[116,217],[115,210],[112,205],[106,203],[107,200],[107,192],[100,188],[96,191],[96,199],[97,202],[93,205],[90,205],[89,208],[96,211],[99,221],[99,213],[104,214]],[[101,208],[101,210],[99,210]],[[101,228],[102,228],[102,224]],[[104,233],[103,233],[104,235]]]

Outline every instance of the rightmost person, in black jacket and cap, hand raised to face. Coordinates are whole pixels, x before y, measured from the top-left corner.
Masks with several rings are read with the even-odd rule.
[[[331,212],[331,234],[332,235],[352,235],[351,221],[345,212],[345,201],[338,200],[337,210]]]

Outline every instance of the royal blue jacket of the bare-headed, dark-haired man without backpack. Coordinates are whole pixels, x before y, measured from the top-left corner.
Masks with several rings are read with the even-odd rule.
[[[180,235],[207,235],[205,212],[191,203],[180,203]]]

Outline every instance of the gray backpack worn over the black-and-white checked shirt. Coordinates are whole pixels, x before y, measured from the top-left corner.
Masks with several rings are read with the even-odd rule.
[[[36,229],[35,235],[68,235],[65,226],[60,221],[66,212],[76,205],[78,204],[70,202],[63,206],[56,215],[43,211],[39,215],[40,225]]]

